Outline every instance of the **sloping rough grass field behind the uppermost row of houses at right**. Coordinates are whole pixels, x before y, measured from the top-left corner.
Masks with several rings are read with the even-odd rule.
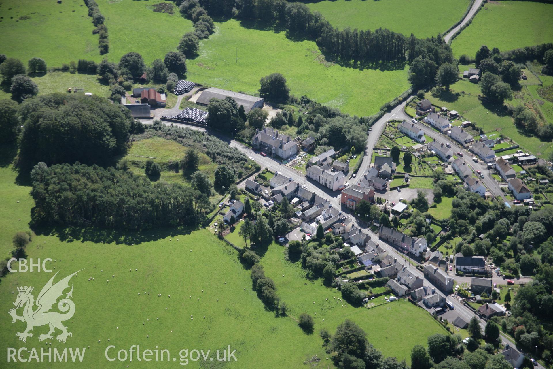
[[[463,70],[463,68],[466,69],[466,67],[460,67],[460,70]],[[525,88],[523,87],[523,90]],[[457,96],[457,93],[459,96]],[[478,100],[479,93],[481,91],[478,85],[459,80],[450,87],[450,92],[443,92],[439,98],[432,96],[429,92],[426,93],[425,97],[430,99],[433,105],[446,106],[450,110],[458,111],[465,119],[476,123],[477,127],[482,127],[486,133],[492,131],[503,133],[535,155],[545,156],[553,151],[553,143],[541,141],[537,137],[526,136],[519,132],[517,127],[514,126],[513,119],[503,109],[499,109],[494,105],[484,105]],[[519,105],[523,101],[515,98],[509,103]],[[502,153],[502,155],[506,154]]]

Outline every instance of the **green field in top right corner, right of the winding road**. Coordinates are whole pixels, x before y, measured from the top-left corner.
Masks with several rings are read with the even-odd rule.
[[[452,42],[455,56],[474,54],[482,45],[502,51],[553,41],[553,4],[531,1],[488,2]]]

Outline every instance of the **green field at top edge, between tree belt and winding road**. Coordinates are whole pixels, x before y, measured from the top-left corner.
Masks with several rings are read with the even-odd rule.
[[[468,5],[467,0],[326,0],[307,4],[339,29],[375,30],[382,27],[407,36],[413,33],[419,38],[444,33],[463,17]],[[434,15],[432,22],[421,22],[416,16],[421,9]]]

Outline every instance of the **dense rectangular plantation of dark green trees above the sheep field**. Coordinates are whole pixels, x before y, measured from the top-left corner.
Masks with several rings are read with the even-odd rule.
[[[153,184],[131,171],[75,163],[44,163],[31,172],[36,225],[146,230],[197,225],[211,207],[207,195],[179,183]]]

